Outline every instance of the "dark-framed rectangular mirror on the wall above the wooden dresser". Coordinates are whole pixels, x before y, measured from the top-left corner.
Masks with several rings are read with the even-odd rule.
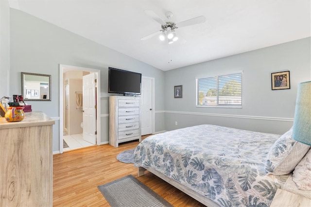
[[[51,75],[22,72],[21,93],[24,101],[51,101]]]

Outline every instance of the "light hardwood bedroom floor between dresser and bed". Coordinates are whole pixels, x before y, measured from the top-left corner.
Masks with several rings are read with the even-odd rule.
[[[133,164],[116,159],[120,152],[137,145],[138,141],[121,144],[118,148],[106,144],[53,155],[53,206],[109,207],[97,186],[128,174],[138,178],[174,207],[204,206],[152,173],[146,172],[138,177],[138,170]]]

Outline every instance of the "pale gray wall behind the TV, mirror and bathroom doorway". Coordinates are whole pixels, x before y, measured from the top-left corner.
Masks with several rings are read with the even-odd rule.
[[[55,120],[53,152],[59,151],[59,64],[101,70],[101,142],[108,141],[108,67],[127,69],[155,78],[155,110],[164,110],[164,71],[142,63],[67,30],[11,9],[10,95],[21,93],[20,72],[50,74],[51,102],[31,102],[32,109],[43,111]],[[162,118],[159,120],[158,118]],[[164,116],[156,116],[156,123]],[[163,126],[162,126],[163,127]]]

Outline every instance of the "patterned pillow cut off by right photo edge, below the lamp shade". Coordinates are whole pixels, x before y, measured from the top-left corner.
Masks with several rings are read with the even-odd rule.
[[[311,149],[295,167],[293,181],[300,190],[311,190]]]

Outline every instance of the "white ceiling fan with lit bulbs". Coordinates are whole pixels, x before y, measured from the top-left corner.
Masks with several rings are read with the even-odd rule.
[[[180,28],[180,27],[190,26],[193,24],[204,23],[206,21],[206,18],[204,16],[199,16],[199,17],[190,18],[188,20],[181,21],[178,23],[174,23],[173,21],[170,21],[170,18],[173,17],[172,12],[166,12],[165,13],[165,16],[168,18],[168,21],[164,21],[159,16],[157,16],[155,14],[155,12],[153,12],[151,10],[146,10],[145,13],[148,16],[152,17],[156,22],[161,24],[162,29],[151,34],[151,35],[147,35],[147,36],[142,37],[141,40],[146,40],[146,39],[149,39],[155,35],[160,34],[159,35],[160,40],[164,41],[165,39],[167,39],[169,44],[178,40],[178,36],[175,33],[175,29]]]

